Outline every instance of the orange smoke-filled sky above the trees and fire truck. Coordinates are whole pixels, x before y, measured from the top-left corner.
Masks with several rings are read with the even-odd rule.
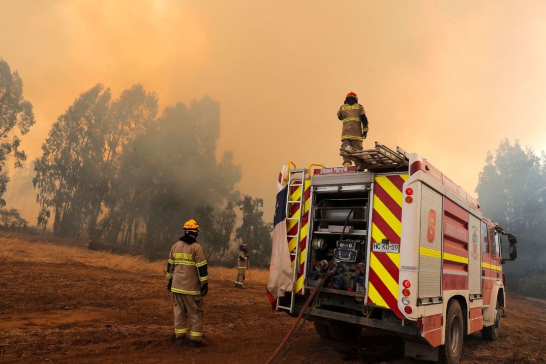
[[[0,57],[19,71],[37,119],[23,138],[28,160],[98,82],[114,95],[142,83],[161,108],[218,100],[218,152],[234,152],[238,188],[264,198],[268,220],[288,159],[341,164],[336,111],[348,91],[370,120],[365,146],[418,152],[469,192],[503,138],[546,147],[543,1],[2,0],[0,9]]]

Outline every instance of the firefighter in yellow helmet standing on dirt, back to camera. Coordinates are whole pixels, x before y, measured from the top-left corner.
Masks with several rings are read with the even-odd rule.
[[[203,297],[209,290],[205,253],[195,240],[199,224],[189,220],[183,225],[183,236],[170,250],[167,262],[167,289],[173,292],[174,332],[182,345],[189,331],[189,345],[204,346]]]

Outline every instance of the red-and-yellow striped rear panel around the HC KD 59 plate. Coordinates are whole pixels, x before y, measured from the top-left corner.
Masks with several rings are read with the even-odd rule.
[[[400,254],[373,252],[373,243],[387,238],[400,243],[402,235],[402,185],[408,175],[376,176],[373,184],[372,240],[368,302],[390,308],[400,318],[398,308],[398,277]]]

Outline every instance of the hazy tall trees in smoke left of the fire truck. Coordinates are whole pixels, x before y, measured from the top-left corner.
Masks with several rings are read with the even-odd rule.
[[[2,65],[7,71],[0,67],[0,119],[24,134],[34,122],[32,105],[22,99],[18,75],[4,61]],[[2,93],[10,85],[4,73],[10,75],[14,91]],[[5,101],[6,94],[13,94],[15,101]],[[238,240],[256,252],[257,265],[265,266],[271,224],[263,221],[260,199],[236,190],[241,170],[233,154],[217,156],[218,102],[204,97],[189,106],[158,109],[157,94],[142,85],[117,98],[100,83],[82,92],[57,117],[33,163],[37,225],[51,228],[56,236],[137,246],[150,258],[163,259],[180,236],[182,223],[195,218],[210,259],[222,260]],[[8,152],[16,166],[25,159],[18,139],[0,142],[0,162]],[[0,196],[7,181],[4,172]],[[242,226],[251,225],[250,234],[235,229],[237,208]]]

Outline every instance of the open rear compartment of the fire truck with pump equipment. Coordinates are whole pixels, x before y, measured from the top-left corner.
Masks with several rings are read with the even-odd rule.
[[[369,199],[369,188],[314,193],[311,264],[306,282],[310,289],[333,268],[335,275],[322,291],[354,296],[354,303],[361,306],[366,282]]]

